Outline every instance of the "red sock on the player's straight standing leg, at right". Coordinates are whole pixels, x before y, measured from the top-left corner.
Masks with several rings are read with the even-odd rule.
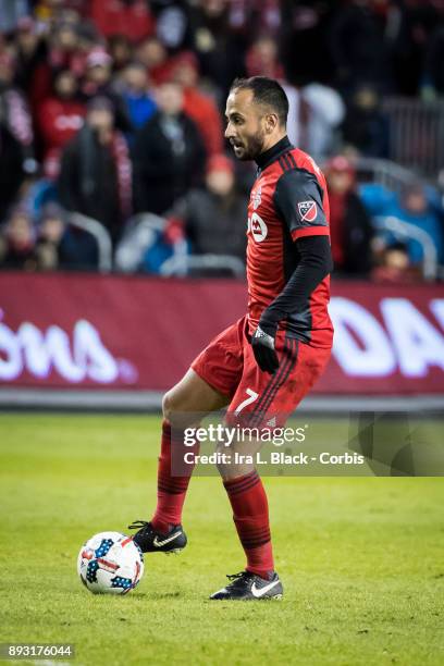
[[[274,570],[268,502],[255,470],[223,483],[233,508],[237,534],[247,556],[247,571],[268,579]]]

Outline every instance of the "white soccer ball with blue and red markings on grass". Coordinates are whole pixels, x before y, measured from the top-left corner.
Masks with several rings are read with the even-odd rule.
[[[94,594],[126,594],[144,575],[144,555],[131,536],[99,532],[82,546],[77,574]]]

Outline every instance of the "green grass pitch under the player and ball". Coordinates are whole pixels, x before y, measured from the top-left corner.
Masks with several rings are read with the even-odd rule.
[[[252,603],[208,601],[244,558],[220,481],[196,478],[188,547],[146,556],[127,596],[88,593],[83,542],[150,517],[159,425],[0,416],[0,642],[74,643],[76,666],[444,663],[439,478],[264,479],[285,596]]]

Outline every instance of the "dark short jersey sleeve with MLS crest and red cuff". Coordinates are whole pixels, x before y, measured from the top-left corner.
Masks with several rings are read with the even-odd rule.
[[[274,192],[274,206],[294,240],[329,235],[322,188],[309,171],[293,169],[283,173]]]

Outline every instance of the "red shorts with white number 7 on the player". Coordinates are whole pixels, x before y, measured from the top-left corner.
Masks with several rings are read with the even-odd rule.
[[[243,317],[214,337],[192,368],[215,391],[231,398],[229,414],[288,416],[322,374],[331,349],[286,337],[285,331],[278,332],[275,349],[280,359],[278,371],[262,372],[252,353],[247,318]]]

